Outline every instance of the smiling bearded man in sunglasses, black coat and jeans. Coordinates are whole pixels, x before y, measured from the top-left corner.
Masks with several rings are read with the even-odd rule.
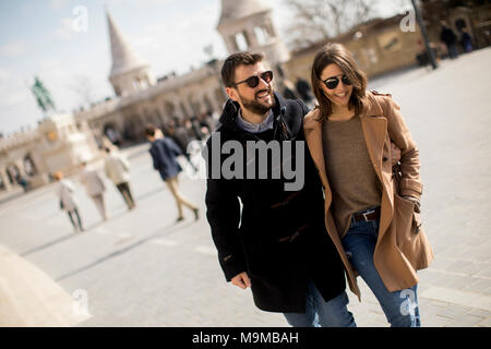
[[[250,287],[259,309],[292,326],[355,326],[304,143],[306,105],[273,92],[261,53],[231,55],[221,80],[230,99],[204,157],[206,216],[226,280]]]

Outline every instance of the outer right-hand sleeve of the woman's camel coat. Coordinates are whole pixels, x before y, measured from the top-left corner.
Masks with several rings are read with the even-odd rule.
[[[391,98],[384,97],[385,115],[388,121],[391,140],[400,148],[400,195],[421,198],[422,183],[419,177],[419,151],[412,140],[400,107]]]

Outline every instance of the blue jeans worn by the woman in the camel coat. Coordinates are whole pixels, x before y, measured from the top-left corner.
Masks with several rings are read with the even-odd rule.
[[[367,209],[369,210],[369,209]],[[420,327],[417,286],[390,292],[373,264],[380,219],[354,221],[343,238],[348,258],[379,300],[392,327]]]

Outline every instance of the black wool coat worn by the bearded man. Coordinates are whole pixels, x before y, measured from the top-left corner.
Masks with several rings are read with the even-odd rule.
[[[239,106],[227,101],[221,125],[208,139],[203,153],[208,165],[206,216],[226,280],[247,272],[259,309],[302,313],[309,280],[314,281],[325,301],[346,288],[342,261],[325,229],[322,184],[307,143],[303,154],[294,152],[290,159],[295,165],[296,156],[304,157],[304,168],[296,169],[297,176],[304,171],[304,184],[298,191],[285,191],[285,182],[291,180],[285,179],[284,172],[280,179],[272,178],[271,158],[267,179],[247,179],[246,170],[242,179],[212,176],[213,164],[221,165],[230,156],[214,149],[217,144],[221,147],[227,141],[239,141],[246,154],[248,141],[287,141],[292,143],[292,149],[296,142],[304,142],[306,105],[283,99],[278,94],[275,100],[273,130],[256,134],[238,129]],[[219,163],[214,163],[214,156],[219,157]],[[248,157],[243,158],[246,169]],[[258,157],[253,161],[258,165]]]

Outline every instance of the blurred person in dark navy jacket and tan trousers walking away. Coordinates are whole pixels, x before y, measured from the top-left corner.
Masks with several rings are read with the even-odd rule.
[[[154,125],[145,128],[145,136],[152,142],[149,154],[161,179],[166,182],[170,193],[176,198],[179,216],[177,221],[184,219],[182,206],[190,208],[194,213],[195,220],[199,219],[199,209],[189,200],[183,197],[179,191],[178,174],[182,171],[177,161],[177,157],[182,154],[179,146],[168,137],[164,137],[161,131]]]

